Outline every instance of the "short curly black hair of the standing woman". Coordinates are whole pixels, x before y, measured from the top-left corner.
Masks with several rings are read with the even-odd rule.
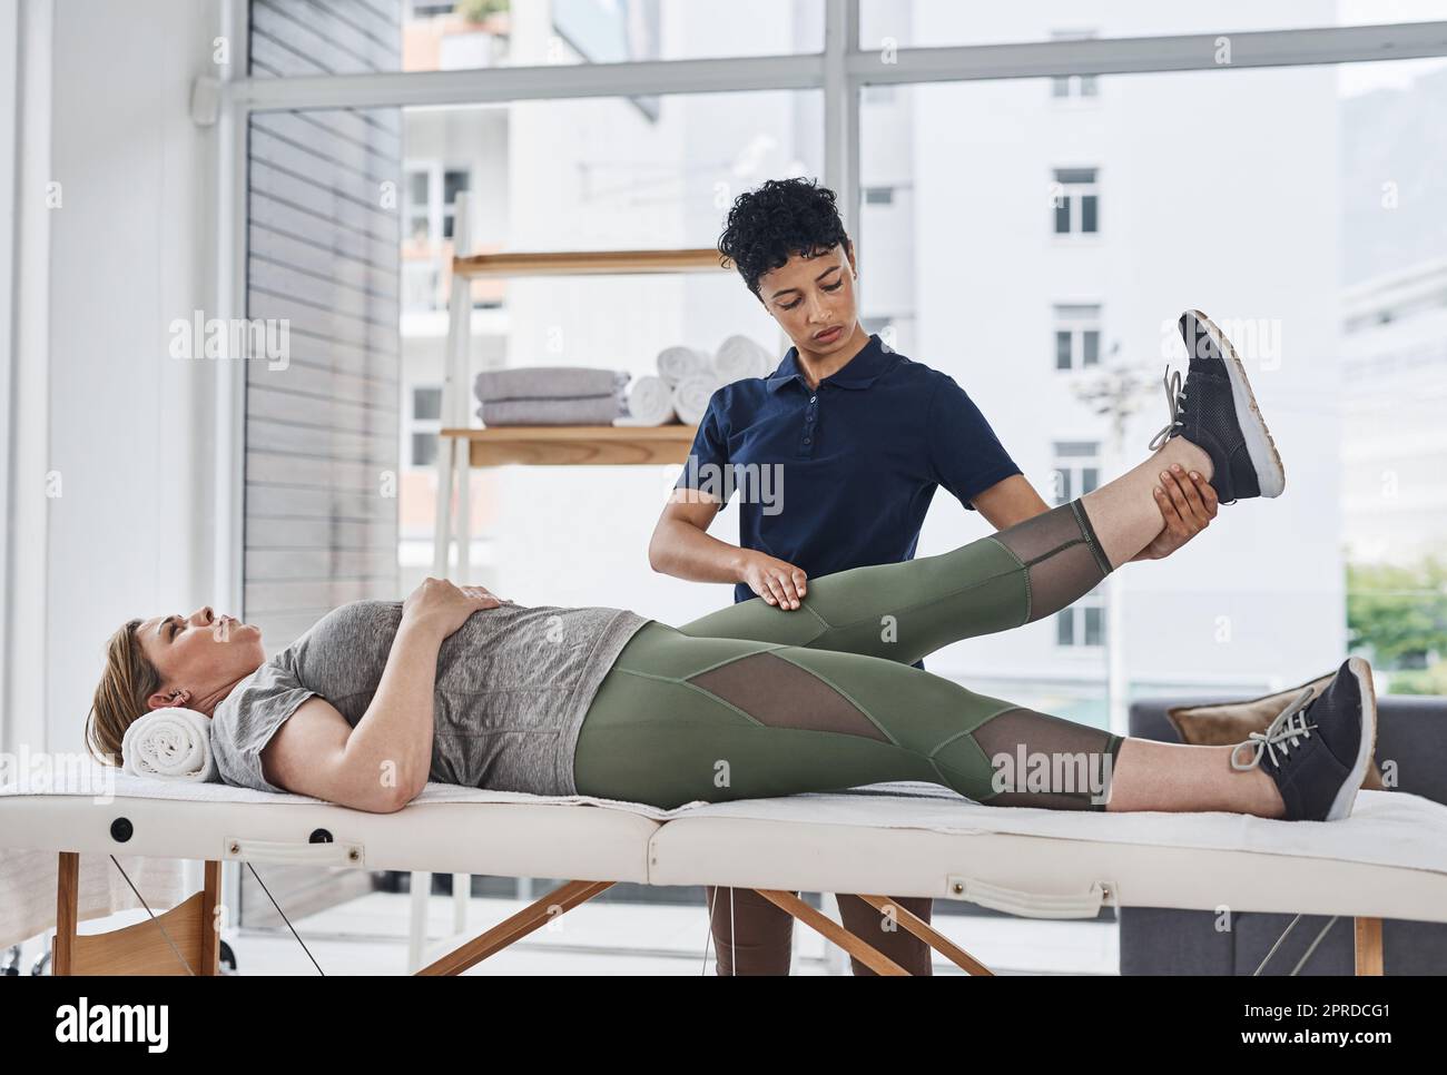
[[[835,194],[813,179],[765,179],[757,190],[739,194],[728,213],[719,253],[734,262],[739,276],[758,301],[758,281],[783,268],[790,256],[852,247],[844,230]]]

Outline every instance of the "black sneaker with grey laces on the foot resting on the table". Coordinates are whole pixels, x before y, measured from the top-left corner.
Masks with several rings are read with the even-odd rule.
[[[1255,751],[1247,762],[1236,755]],[[1231,751],[1231,768],[1260,765],[1286,804],[1283,820],[1334,822],[1351,813],[1376,749],[1376,694],[1372,668],[1360,657],[1343,661],[1312,699],[1307,687],[1265,732],[1252,732]]]

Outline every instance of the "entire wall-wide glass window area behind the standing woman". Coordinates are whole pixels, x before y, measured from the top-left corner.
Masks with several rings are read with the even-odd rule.
[[[362,509],[308,505],[310,489],[276,501],[302,505],[298,530],[331,557],[313,563],[336,579],[307,593],[330,599],[372,572],[378,534],[401,590],[431,572],[460,246],[712,247],[739,192],[807,175],[841,197],[864,327],[952,375],[1048,503],[1147,457],[1169,418],[1163,367],[1184,370],[1175,323],[1187,308],[1237,340],[1286,456],[1289,505],[1226,508],[1175,558],[1113,576],[1123,590],[1108,606],[1101,586],[1059,615],[932,655],[933,673],[1090,723],[1108,719],[1107,651],[1132,697],[1266,693],[1349,645],[1378,657],[1379,686],[1447,693],[1447,638],[1404,644],[1392,626],[1441,608],[1431,554],[1447,545],[1447,64],[1231,62],[1242,32],[1447,19],[1447,3],[1435,7],[860,0],[871,67],[822,54],[826,13],[842,10],[822,0],[253,0],[265,107],[246,94],[233,106],[253,109],[263,150],[247,221],[265,240],[249,252],[253,284],[287,308],[305,304],[311,350],[247,435],[275,453],[320,446],[318,467],[344,456],[350,485],[327,495]],[[1210,49],[1192,69],[1152,69],[1150,54],[1124,48],[1150,35],[1204,35]],[[1098,39],[1087,49],[1121,46],[1139,69],[1006,65],[980,77],[977,51],[959,56],[969,77],[930,68],[917,82],[870,81],[894,78],[890,59],[915,46],[1065,49],[1085,38]],[[1292,48],[1281,42],[1279,55]],[[731,65],[632,64],[713,58],[747,61],[737,85],[713,81]],[[534,67],[556,71],[519,71]],[[405,75],[438,71],[453,74]],[[855,97],[829,104],[857,110],[826,110],[833,80]],[[318,103],[331,93],[318,82],[353,104]],[[308,145],[317,130],[326,140]],[[310,174],[266,171],[284,146],[324,159]],[[298,205],[324,234],[289,234]],[[298,260],[278,276],[268,258]],[[789,346],[735,273],[495,278],[469,292],[470,412],[470,376],[489,367],[637,379],[674,344],[712,352],[744,333],[774,357]],[[317,414],[344,421],[318,425]],[[278,486],[292,477],[272,467]],[[366,514],[389,477],[395,530]],[[627,605],[669,622],[726,603],[726,587],[647,567],[671,477],[642,466],[473,472],[472,580],[525,603]],[[984,532],[954,498],[933,503],[920,554]],[[737,540],[729,521],[715,532]]]

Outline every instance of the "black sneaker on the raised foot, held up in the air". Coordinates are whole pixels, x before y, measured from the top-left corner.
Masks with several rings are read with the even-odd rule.
[[[1281,496],[1286,472],[1231,341],[1200,310],[1181,314],[1179,328],[1191,365],[1185,388],[1179,372],[1168,369],[1163,378],[1171,421],[1150,440],[1150,450],[1172,437],[1202,449],[1221,503]]]

